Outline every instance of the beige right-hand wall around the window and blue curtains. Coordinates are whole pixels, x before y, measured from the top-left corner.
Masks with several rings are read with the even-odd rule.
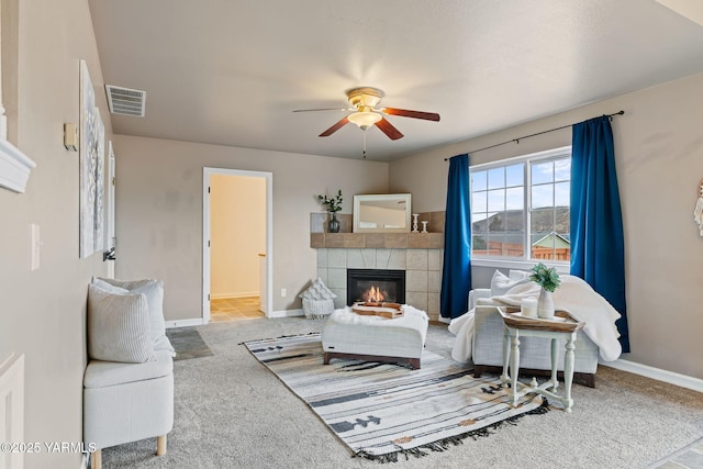
[[[693,223],[703,177],[701,90],[703,75],[696,75],[414,155],[390,165],[390,189],[412,189],[413,211],[443,210],[445,157],[625,110],[613,121],[632,345],[623,358],[703,378],[703,237]],[[555,148],[570,141],[567,129],[477,153],[470,161]]]

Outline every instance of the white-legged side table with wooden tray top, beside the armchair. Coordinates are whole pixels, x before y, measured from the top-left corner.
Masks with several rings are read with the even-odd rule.
[[[565,412],[571,412],[573,400],[571,399],[571,383],[573,381],[573,361],[576,348],[576,333],[583,328],[585,323],[572,316],[567,311],[557,311],[554,320],[525,317],[520,314],[520,309],[499,308],[505,324],[503,336],[503,373],[501,383],[511,383],[512,404],[531,392],[546,395],[561,402]],[[520,337],[545,337],[551,339],[551,377],[543,384],[538,384],[535,378],[529,384],[517,381],[520,375]],[[566,339],[566,354],[563,357],[563,393],[558,394],[559,381],[557,379],[558,344],[559,338]],[[510,367],[510,373],[509,373]]]

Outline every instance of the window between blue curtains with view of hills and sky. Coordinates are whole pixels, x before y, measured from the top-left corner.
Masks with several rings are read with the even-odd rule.
[[[570,260],[571,147],[469,172],[473,258]]]

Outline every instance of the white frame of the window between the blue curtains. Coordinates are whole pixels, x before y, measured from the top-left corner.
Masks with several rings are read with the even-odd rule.
[[[523,200],[524,205],[523,210],[525,212],[525,232],[523,237],[523,245],[531,246],[531,234],[529,227],[531,223],[531,171],[529,171],[529,163],[536,163],[539,160],[546,160],[551,158],[559,158],[562,156],[571,156],[571,146],[562,146],[559,148],[548,149],[544,152],[531,153],[528,155],[521,155],[513,158],[501,159],[498,161],[484,163],[480,165],[475,165],[469,167],[469,177],[473,171],[483,171],[492,168],[511,166],[516,163],[525,163],[524,166],[524,186],[523,186]],[[472,188],[470,188],[472,193]],[[471,194],[469,194],[471,196]],[[473,211],[471,211],[471,215],[473,215]],[[473,226],[473,220],[471,220],[471,226]],[[471,233],[471,265],[479,267],[495,267],[495,268],[505,268],[505,269],[522,269],[527,270],[531,269],[538,260],[532,259],[528,256],[532,255],[532,249],[525,248],[525,254],[522,258],[517,257],[503,257],[503,256],[481,256],[473,255],[473,233]],[[560,273],[569,273],[570,261],[565,260],[539,260],[548,267],[555,267]]]

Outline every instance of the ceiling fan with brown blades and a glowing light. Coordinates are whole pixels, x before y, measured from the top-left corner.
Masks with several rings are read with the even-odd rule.
[[[353,88],[348,90],[346,94],[349,104],[352,104],[350,108],[299,109],[293,112],[355,111],[354,113],[341,119],[333,126],[321,133],[321,137],[330,136],[349,122],[353,122],[362,131],[366,131],[367,129],[376,125],[390,139],[395,141],[398,138],[402,138],[403,134],[398,129],[395,129],[393,124],[388,122],[383,114],[400,115],[402,118],[423,119],[425,121],[439,121],[439,114],[434,112],[410,111],[406,109],[397,108],[377,108],[384,96],[383,91],[379,90],[378,88]]]

